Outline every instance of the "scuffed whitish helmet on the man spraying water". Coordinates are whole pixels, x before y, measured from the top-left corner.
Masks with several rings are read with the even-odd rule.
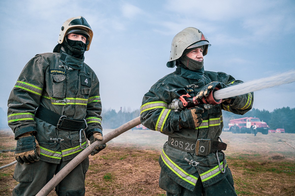
[[[194,27],[187,27],[176,34],[171,43],[171,51],[167,67],[174,67],[176,59],[180,58],[185,49],[203,46],[203,56],[207,55],[208,47],[211,46],[207,37]]]

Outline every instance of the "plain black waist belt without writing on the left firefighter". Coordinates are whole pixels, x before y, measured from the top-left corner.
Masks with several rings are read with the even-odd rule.
[[[57,113],[43,107],[39,106],[35,113],[35,116],[42,121],[56,126],[58,130],[68,129],[72,131],[80,131],[86,127],[86,122],[84,120],[66,118],[66,116],[60,116]]]

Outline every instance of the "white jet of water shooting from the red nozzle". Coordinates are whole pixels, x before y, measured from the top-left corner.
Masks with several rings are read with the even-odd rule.
[[[265,88],[280,86],[287,83],[295,82],[295,70],[280,73],[267,78],[251,80],[245,83],[237,84],[227,88],[223,88],[214,92],[213,96],[217,99],[225,99],[245,93],[250,93]]]

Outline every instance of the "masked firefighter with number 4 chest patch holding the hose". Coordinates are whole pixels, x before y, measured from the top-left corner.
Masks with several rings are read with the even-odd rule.
[[[8,125],[17,140],[12,195],[36,195],[87,145],[102,140],[99,80],[84,63],[93,32],[83,17],[64,22],[53,53],[24,67],[8,100]],[[92,155],[106,145],[96,146]],[[85,195],[88,157],[56,187],[57,195]]]

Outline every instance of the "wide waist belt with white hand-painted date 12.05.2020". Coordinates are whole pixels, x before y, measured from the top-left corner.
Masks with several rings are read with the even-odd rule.
[[[177,150],[196,153],[197,156],[206,156],[211,152],[226,150],[227,144],[212,139],[185,139],[168,136],[168,145]]]

